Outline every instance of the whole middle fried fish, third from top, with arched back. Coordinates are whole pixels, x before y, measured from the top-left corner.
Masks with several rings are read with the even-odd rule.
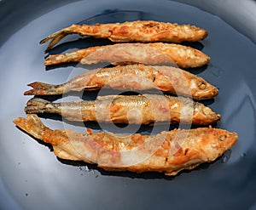
[[[160,89],[171,94],[191,96],[193,99],[211,99],[218,88],[201,77],[172,66],[120,65],[86,71],[60,84],[33,82],[26,95],[54,95],[71,91],[113,88],[120,90]]]

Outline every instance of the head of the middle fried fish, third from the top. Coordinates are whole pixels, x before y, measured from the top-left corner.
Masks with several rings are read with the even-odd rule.
[[[203,78],[192,79],[190,89],[194,99],[211,99],[218,95],[218,88],[205,81]]]

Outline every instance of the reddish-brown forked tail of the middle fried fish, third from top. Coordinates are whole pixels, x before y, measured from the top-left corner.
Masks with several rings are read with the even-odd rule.
[[[63,94],[61,92],[61,85],[52,85],[43,82],[32,82],[28,84],[32,89],[27,90],[25,95],[54,95]]]

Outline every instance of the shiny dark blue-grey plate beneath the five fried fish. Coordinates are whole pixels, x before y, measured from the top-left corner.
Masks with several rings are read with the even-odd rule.
[[[234,1],[219,6],[214,3],[220,1],[193,5],[167,0],[27,2],[0,1],[4,31],[0,39],[1,209],[256,209],[256,34],[248,26],[255,26],[253,14],[244,13]],[[245,8],[256,4],[244,2]],[[46,70],[46,45],[38,43],[42,38],[73,23],[125,20],[188,23],[209,31],[195,47],[212,60],[207,69],[193,72],[219,88],[218,96],[207,104],[223,116],[217,127],[239,134],[237,144],[218,161],[173,178],[107,173],[60,162],[49,148],[15,128],[12,121],[25,116],[23,109],[30,99],[23,95],[26,84],[66,82],[74,69]],[[76,38],[67,37],[67,43],[52,52],[108,43],[92,38],[72,42]],[[56,126],[52,119],[44,122]]]

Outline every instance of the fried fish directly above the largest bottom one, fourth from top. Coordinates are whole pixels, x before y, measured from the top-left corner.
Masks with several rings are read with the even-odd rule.
[[[53,103],[45,99],[30,99],[27,114],[52,113],[69,121],[152,124],[154,122],[192,123],[208,125],[220,115],[192,99],[168,95],[115,95],[96,100]]]

